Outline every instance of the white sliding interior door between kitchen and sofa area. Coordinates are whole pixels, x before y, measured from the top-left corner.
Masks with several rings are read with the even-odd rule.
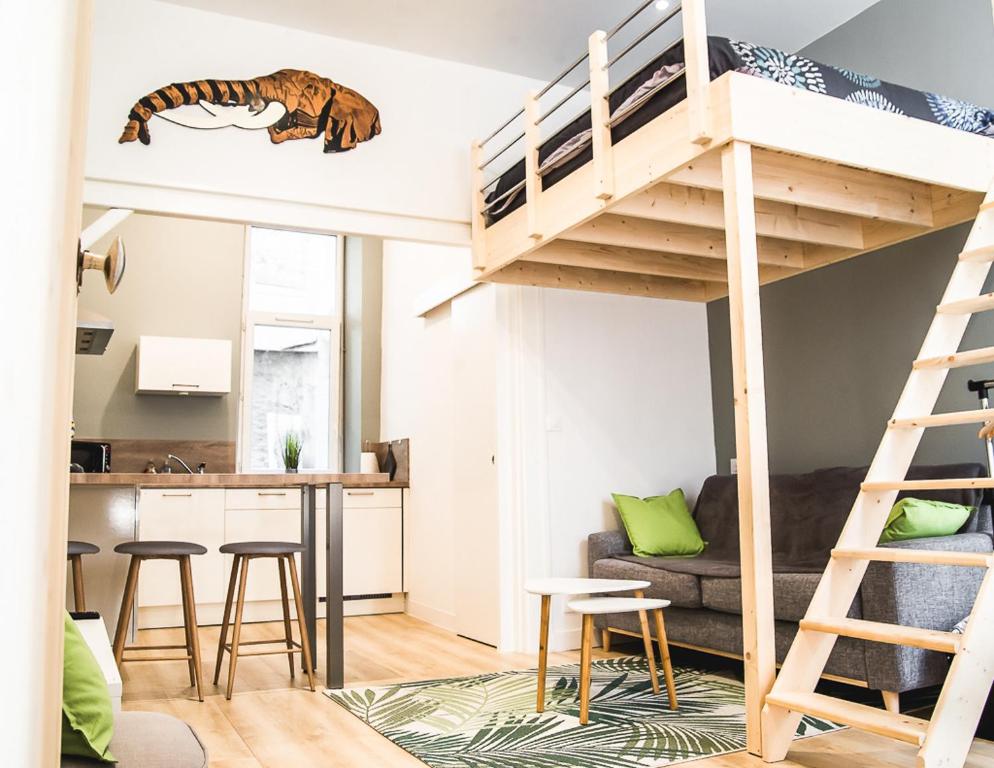
[[[500,635],[497,520],[496,289],[452,302],[455,376],[453,493],[456,509],[456,631],[488,645]]]

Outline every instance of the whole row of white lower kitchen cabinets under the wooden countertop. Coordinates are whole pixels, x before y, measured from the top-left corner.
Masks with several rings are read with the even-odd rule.
[[[317,588],[325,595],[325,494],[317,494]],[[207,547],[191,558],[198,620],[220,622],[231,572],[231,555],[218,548],[234,541],[300,541],[300,492],[292,489],[145,490],[139,501],[139,539],[179,539]],[[343,494],[343,586],[348,614],[390,610],[360,596],[400,596],[403,578],[403,502],[398,488],[347,488]],[[301,578],[300,556],[297,569]],[[287,588],[290,589],[289,583]],[[282,619],[279,572],[273,560],[249,566],[246,621]],[[292,599],[292,598],[291,598]],[[400,599],[399,597],[397,599]],[[177,626],[182,621],[179,576],[174,562],[142,566],[139,627]],[[396,605],[396,602],[393,603]],[[396,610],[393,607],[392,610]],[[319,615],[324,607],[319,606]]]

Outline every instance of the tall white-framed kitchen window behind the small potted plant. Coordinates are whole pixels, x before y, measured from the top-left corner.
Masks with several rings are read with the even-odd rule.
[[[283,469],[292,432],[301,469],[337,470],[340,238],[250,227],[246,251],[241,468]]]

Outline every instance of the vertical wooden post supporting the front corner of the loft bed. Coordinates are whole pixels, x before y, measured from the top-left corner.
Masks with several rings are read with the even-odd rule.
[[[739,548],[742,553],[746,749],[751,754],[761,755],[761,715],[776,678],[776,649],[752,147],[732,142],[722,149],[721,165],[728,235],[728,309],[738,462]]]

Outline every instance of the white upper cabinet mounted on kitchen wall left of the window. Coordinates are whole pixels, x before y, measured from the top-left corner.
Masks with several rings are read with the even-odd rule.
[[[231,341],[140,336],[135,363],[139,395],[226,395]]]

